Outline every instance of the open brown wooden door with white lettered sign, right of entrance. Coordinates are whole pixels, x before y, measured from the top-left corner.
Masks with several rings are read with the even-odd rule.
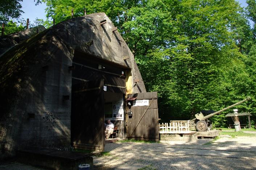
[[[127,111],[129,108],[132,111],[132,116],[127,115],[127,138],[159,141],[157,92],[127,95],[127,99],[131,98],[136,98],[136,100],[131,100],[131,107],[126,106]],[[141,102],[148,103],[148,105],[141,105]]]

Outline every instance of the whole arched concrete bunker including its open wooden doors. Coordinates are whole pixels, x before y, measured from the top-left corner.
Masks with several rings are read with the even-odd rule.
[[[0,65],[0,158],[32,146],[104,151],[106,119],[120,138],[159,140],[157,93],[146,92],[105,13],[60,22],[5,51]],[[128,108],[126,98],[147,105]]]

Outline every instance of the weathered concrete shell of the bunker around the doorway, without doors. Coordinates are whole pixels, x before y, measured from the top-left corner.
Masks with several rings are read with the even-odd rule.
[[[105,19],[107,23],[100,25]],[[133,54],[113,27],[104,13],[73,18],[0,57],[0,159],[14,155],[18,148],[70,145],[71,98],[63,100],[63,96],[71,96],[69,66],[75,50],[130,68],[130,84],[135,79],[140,82],[129,93],[146,92]]]

